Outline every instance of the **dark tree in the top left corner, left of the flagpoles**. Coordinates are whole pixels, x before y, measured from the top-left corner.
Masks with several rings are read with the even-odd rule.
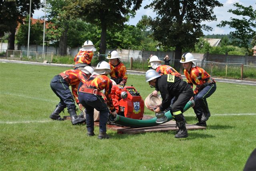
[[[18,23],[22,23],[29,14],[30,0],[4,0],[0,2],[0,37],[4,32],[10,32],[8,38],[8,49],[14,50],[15,31]],[[41,7],[40,0],[33,0],[31,14]]]

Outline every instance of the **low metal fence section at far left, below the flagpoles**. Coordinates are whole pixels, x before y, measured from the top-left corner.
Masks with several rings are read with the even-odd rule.
[[[12,60],[25,60],[35,62],[52,62],[53,53],[49,52],[34,52],[34,51],[22,51],[22,50],[6,50],[6,59]]]

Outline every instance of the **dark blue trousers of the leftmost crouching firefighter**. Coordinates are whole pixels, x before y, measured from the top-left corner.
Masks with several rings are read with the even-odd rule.
[[[76,102],[69,89],[68,83],[61,76],[54,76],[50,86],[52,91],[60,98],[58,105],[68,109],[76,109]]]

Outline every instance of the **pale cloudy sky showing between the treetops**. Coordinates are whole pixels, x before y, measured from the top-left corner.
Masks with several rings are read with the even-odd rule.
[[[44,1],[44,0],[42,0]],[[152,18],[156,17],[156,14],[152,11],[152,9],[144,9],[144,6],[150,4],[152,0],[143,0],[142,5],[139,10],[136,11],[136,15],[134,18],[130,18],[130,21],[126,24],[134,25],[138,23],[138,21],[141,19],[142,15],[151,16]],[[239,4],[243,6],[252,6],[254,10],[256,9],[256,0],[219,0],[220,3],[223,4],[222,7],[216,7],[214,8],[214,14],[216,15],[217,21],[212,22],[202,22],[202,24],[206,24],[207,26],[212,27],[212,31],[206,32],[203,31],[204,35],[207,34],[229,34],[231,31],[234,31],[234,29],[226,27],[217,27],[217,24],[220,24],[222,20],[230,20],[230,18],[242,18],[236,15],[233,15],[232,13],[228,12],[229,9],[236,9],[234,8],[233,4],[238,2]],[[36,10],[33,14],[33,18],[40,18],[44,16],[44,12],[41,10]]]

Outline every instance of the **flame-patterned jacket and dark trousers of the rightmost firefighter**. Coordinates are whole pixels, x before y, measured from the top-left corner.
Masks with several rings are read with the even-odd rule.
[[[194,89],[194,111],[196,115],[202,115],[202,112],[210,112],[206,98],[210,97],[216,90],[215,80],[204,69],[195,66],[191,67],[190,71],[184,70],[187,82],[191,88],[193,84],[196,85]]]

